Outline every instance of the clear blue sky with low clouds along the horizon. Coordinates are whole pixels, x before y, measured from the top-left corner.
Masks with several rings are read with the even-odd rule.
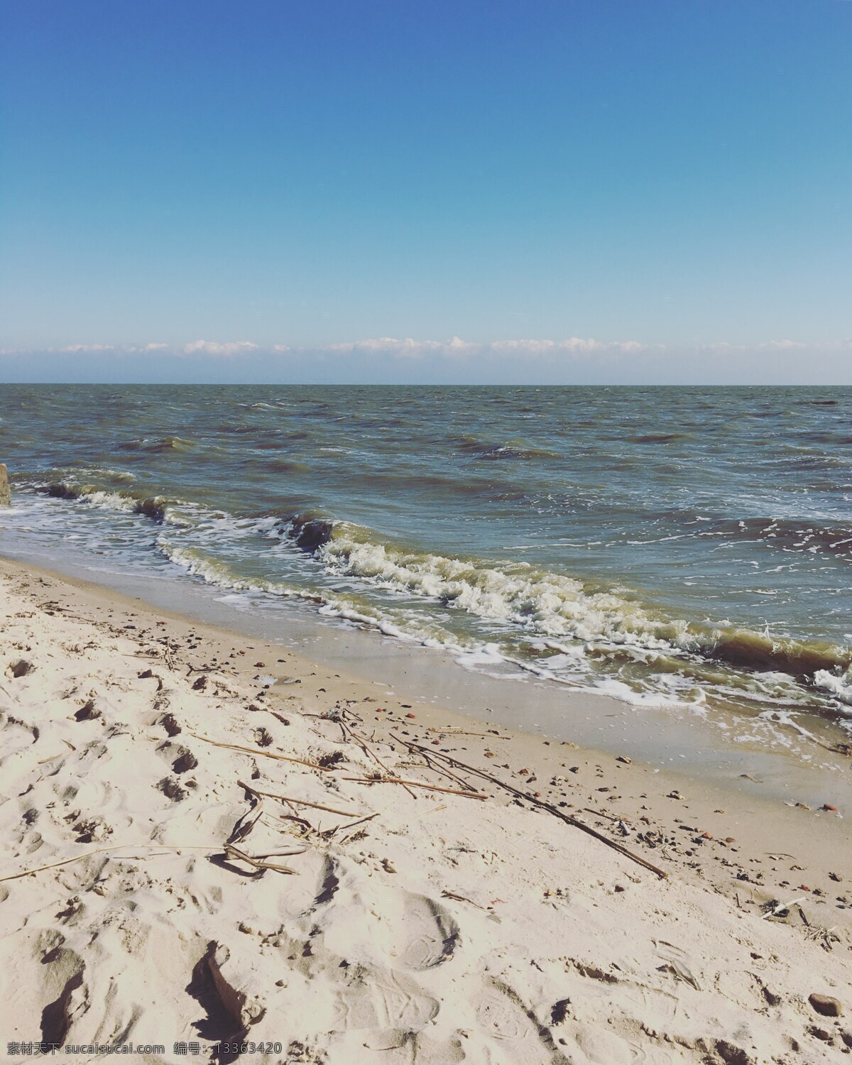
[[[849,0],[0,2],[0,379],[852,382]]]

